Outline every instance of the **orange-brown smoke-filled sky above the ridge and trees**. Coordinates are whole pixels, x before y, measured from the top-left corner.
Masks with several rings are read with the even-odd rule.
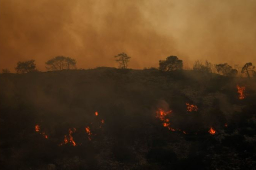
[[[78,69],[157,67],[177,55],[195,60],[256,64],[255,0],[1,0],[0,69],[34,59],[37,69],[58,55]]]

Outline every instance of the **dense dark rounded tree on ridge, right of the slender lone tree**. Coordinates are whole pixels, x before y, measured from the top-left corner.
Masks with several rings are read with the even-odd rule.
[[[159,70],[161,71],[181,70],[182,67],[183,62],[177,56],[169,56],[166,60],[159,61]]]

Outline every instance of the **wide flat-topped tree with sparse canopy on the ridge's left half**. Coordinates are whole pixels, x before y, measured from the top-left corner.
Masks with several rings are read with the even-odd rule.
[[[45,63],[47,70],[71,70],[76,69],[76,60],[70,57],[57,56]]]

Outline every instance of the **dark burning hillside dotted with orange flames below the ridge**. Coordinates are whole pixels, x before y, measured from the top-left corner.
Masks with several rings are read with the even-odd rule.
[[[253,78],[100,67],[0,88],[0,169],[256,169]]]

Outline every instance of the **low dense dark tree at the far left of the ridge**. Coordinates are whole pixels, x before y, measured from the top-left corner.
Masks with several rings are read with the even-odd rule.
[[[28,73],[28,72],[37,71],[35,60],[18,62],[17,67],[15,67],[15,70],[17,71],[17,73]]]

